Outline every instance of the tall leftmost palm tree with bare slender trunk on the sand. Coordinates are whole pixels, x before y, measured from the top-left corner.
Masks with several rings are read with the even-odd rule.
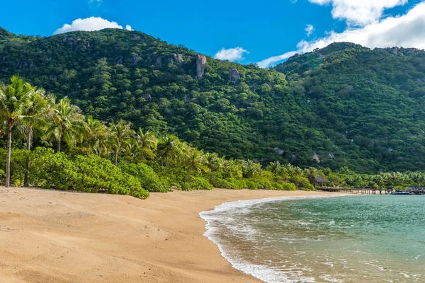
[[[9,187],[11,179],[12,129],[24,117],[33,90],[33,86],[18,75],[12,76],[7,86],[0,83],[0,112],[7,126],[6,187]]]

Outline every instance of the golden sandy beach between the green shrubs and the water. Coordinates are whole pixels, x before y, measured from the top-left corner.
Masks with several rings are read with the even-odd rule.
[[[223,202],[320,192],[152,193],[147,200],[0,187],[0,282],[259,282],[203,236]]]

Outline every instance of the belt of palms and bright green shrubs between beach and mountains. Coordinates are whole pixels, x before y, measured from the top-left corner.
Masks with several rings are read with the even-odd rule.
[[[132,129],[130,122],[84,116],[69,98],[57,100],[18,75],[0,84],[0,180],[9,187],[36,185],[59,190],[108,192],[146,198],[173,189],[314,190],[319,175],[328,185],[407,186],[424,183],[425,173],[360,175],[341,168],[305,168],[234,160],[208,153],[167,134]],[[33,149],[35,147],[35,149]],[[317,180],[317,179],[316,179]],[[322,182],[322,181],[321,181]]]

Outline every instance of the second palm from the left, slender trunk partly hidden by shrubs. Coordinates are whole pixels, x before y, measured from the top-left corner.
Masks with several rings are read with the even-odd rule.
[[[26,126],[26,146],[27,150],[31,151],[33,143],[33,128],[34,126],[42,127],[46,123],[46,115],[48,110],[48,102],[45,99],[45,91],[42,88],[35,89],[33,95],[28,101],[29,105],[23,117],[23,125]],[[26,161],[26,173],[23,181],[24,186],[28,187],[28,171],[30,169],[30,159]]]

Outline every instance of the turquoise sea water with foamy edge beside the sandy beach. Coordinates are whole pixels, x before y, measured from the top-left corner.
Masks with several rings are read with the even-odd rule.
[[[230,202],[200,216],[222,255],[265,282],[425,282],[425,196]]]

